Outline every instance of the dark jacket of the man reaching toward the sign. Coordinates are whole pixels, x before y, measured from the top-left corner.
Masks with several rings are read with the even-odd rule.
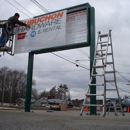
[[[15,27],[15,24],[19,24],[19,25],[23,25],[23,26],[27,26],[27,24],[19,21],[15,16],[12,16],[8,19],[9,24],[11,27]]]

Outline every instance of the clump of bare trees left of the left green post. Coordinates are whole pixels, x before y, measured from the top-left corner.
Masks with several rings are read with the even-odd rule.
[[[17,98],[25,98],[27,74],[23,70],[0,68],[0,101],[15,102]],[[33,85],[36,85],[33,80]],[[5,95],[4,95],[5,93]]]

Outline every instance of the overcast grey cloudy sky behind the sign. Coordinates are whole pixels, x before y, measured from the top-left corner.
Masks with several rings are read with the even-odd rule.
[[[18,5],[14,0],[1,0],[1,13],[0,20],[6,20],[14,13],[20,13],[20,20],[32,18],[33,16],[45,14],[40,8],[38,8],[30,0],[16,0],[24,8]],[[71,6],[89,3],[95,8],[95,24],[96,24],[96,40],[97,32],[108,33],[108,30],[112,30],[112,41],[115,68],[120,75],[116,73],[117,85],[120,96],[129,95],[130,88],[128,83],[130,76],[130,1],[129,0],[37,0],[42,6],[44,6],[49,12],[68,8]],[[17,8],[15,8],[15,7]],[[19,9],[19,10],[18,10]],[[22,12],[20,12],[22,10]],[[24,12],[24,13],[23,13]],[[26,14],[26,15],[25,15]],[[96,42],[96,41],[95,41]],[[67,51],[56,52],[62,57],[78,61],[86,68],[89,68],[89,61],[86,60],[89,57],[89,47],[73,49]],[[28,54],[17,54],[10,56],[5,53],[0,58],[0,67],[8,66],[12,69],[23,69],[27,71]],[[122,76],[124,77],[122,77]],[[89,70],[76,67],[76,65],[63,60],[52,53],[40,54],[34,56],[34,71],[33,79],[36,80],[37,86],[35,88],[40,92],[43,90],[49,90],[54,86],[60,84],[67,84],[70,88],[70,94],[72,99],[83,99],[87,85],[89,82]],[[114,96],[116,93],[111,93]]]

